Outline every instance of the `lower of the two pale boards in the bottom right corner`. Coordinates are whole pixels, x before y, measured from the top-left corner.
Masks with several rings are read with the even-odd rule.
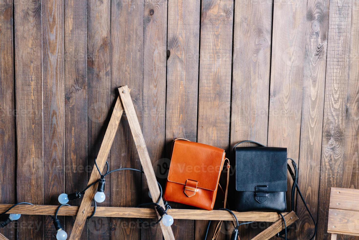
[[[359,236],[359,212],[330,208],[328,232]]]

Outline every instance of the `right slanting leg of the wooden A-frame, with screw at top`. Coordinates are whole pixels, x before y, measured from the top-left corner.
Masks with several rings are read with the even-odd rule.
[[[155,176],[155,172],[152,167],[151,159],[148,154],[147,146],[145,139],[143,137],[143,133],[141,130],[140,123],[137,118],[137,114],[135,111],[135,107],[133,105],[133,101],[131,99],[130,90],[127,86],[119,87],[118,91],[120,92],[120,98],[122,101],[122,106],[124,111],[126,112],[127,121],[131,128],[132,137],[134,138],[134,142],[136,144],[136,149],[140,158],[140,162],[143,168],[143,171],[146,176],[148,188],[150,190],[152,200],[157,201],[160,196],[160,190],[157,185],[157,179]],[[159,204],[164,207],[163,200],[160,199]],[[159,216],[158,216],[159,217]],[[174,240],[174,235],[172,228],[169,226],[164,226],[162,221],[160,222],[160,226],[162,229],[162,234],[165,240]]]

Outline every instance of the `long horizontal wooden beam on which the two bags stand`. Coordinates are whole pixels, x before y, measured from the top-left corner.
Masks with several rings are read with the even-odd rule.
[[[10,208],[12,204],[0,204],[0,212]],[[27,215],[54,215],[56,205],[17,205],[8,213]],[[59,216],[76,216],[78,206],[63,206],[59,210]],[[90,208],[88,216],[92,214],[94,207]],[[233,216],[224,210],[197,210],[197,209],[168,209],[174,219],[192,220],[224,220],[232,221]],[[274,212],[234,212],[239,221],[276,222],[280,218]],[[288,214],[284,213],[283,215]],[[154,208],[124,208],[124,207],[97,207],[96,217],[124,217],[124,218],[157,218]]]

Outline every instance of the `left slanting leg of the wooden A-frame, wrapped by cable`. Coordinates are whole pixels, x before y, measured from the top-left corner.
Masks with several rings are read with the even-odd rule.
[[[101,171],[105,166],[109,151],[112,146],[113,139],[115,139],[115,135],[117,132],[118,124],[120,123],[122,117],[122,113],[123,113],[123,108],[120,98],[118,97],[116,100],[115,108],[113,109],[110,121],[108,123],[105,136],[103,137],[100,150],[97,155],[97,164]],[[91,173],[88,185],[92,184],[93,182],[95,182],[97,179],[100,178],[98,171],[96,171],[96,166],[94,166],[93,169],[94,171],[92,171]],[[86,222],[86,218],[90,212],[92,199],[95,196],[96,187],[97,184],[93,185],[92,187],[86,190],[84,198],[81,201],[81,205],[77,213],[76,220],[69,240],[80,239],[81,232]]]

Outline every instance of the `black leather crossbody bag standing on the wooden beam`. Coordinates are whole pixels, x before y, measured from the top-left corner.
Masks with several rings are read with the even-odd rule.
[[[237,147],[253,142],[258,147]],[[236,157],[236,210],[285,212],[288,186],[287,149],[242,141]]]

